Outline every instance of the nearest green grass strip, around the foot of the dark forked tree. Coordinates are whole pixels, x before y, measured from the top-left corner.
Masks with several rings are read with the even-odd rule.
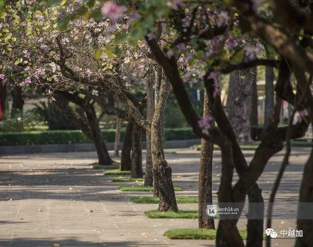
[[[247,239],[247,231],[239,230],[239,234],[243,240]],[[164,233],[170,239],[207,239],[213,240],[216,238],[216,230],[214,229],[199,229],[199,228],[183,228],[168,230]],[[266,239],[265,235],[263,239]]]

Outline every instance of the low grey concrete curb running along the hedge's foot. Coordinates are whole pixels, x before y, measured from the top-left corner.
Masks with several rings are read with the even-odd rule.
[[[106,143],[109,150],[114,150],[114,143]],[[187,148],[200,144],[200,139],[166,141],[165,148]],[[122,145],[120,145],[122,147]],[[146,143],[142,142],[142,148]],[[63,152],[90,152],[95,151],[92,143],[82,144],[45,144],[45,145],[23,145],[23,146],[2,146],[0,155],[8,154],[31,154],[31,153],[63,153]]]

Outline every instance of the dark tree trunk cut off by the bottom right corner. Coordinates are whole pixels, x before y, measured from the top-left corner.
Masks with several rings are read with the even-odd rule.
[[[309,247],[313,243],[313,219],[305,217],[313,214],[313,149],[304,166],[300,187],[297,229],[303,231],[302,237],[297,237],[295,247]],[[304,206],[306,205],[306,206]],[[309,206],[308,206],[309,205]],[[309,208],[309,209],[308,209]]]

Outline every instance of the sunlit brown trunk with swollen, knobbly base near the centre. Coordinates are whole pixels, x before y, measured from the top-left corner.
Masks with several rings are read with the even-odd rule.
[[[172,169],[164,156],[164,112],[167,98],[170,94],[170,83],[163,80],[159,90],[158,101],[155,104],[151,122],[151,153],[153,169],[153,186],[159,192],[159,211],[178,211],[174,186],[172,181]]]

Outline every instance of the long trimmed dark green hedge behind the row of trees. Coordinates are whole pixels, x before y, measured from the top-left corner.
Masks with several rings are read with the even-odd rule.
[[[123,140],[125,130],[121,131]],[[115,130],[102,130],[106,142],[114,142]],[[190,128],[166,129],[165,140],[197,139]],[[145,140],[143,135],[142,140]],[[34,131],[0,133],[0,146],[40,145],[40,144],[78,144],[90,143],[90,140],[81,131]]]

